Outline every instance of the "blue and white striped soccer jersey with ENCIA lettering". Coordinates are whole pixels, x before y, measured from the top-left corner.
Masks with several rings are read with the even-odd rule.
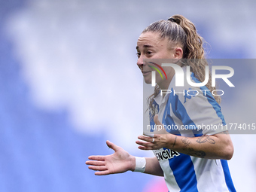
[[[185,71],[185,68],[183,68]],[[184,72],[184,74],[186,74]],[[199,82],[191,73],[191,80]],[[159,120],[164,125],[175,125],[178,127],[187,125],[190,129],[168,130],[179,136],[197,137],[202,135],[214,135],[223,130],[205,129],[197,130],[200,125],[225,125],[221,107],[215,101],[212,93],[207,87],[175,87],[175,77],[169,84],[169,90],[162,99],[160,94],[154,98]],[[197,96],[186,93],[187,90],[197,90]],[[173,92],[175,91],[175,94]],[[185,93],[185,94],[184,94]],[[196,95],[196,94],[194,94]],[[190,125],[190,126],[189,126]],[[151,127],[154,120],[151,118]],[[191,128],[192,127],[192,128]],[[193,129],[194,127],[194,129]],[[181,154],[167,148],[154,150],[164,172],[164,178],[169,191],[236,191],[230,176],[227,160],[210,160]]]

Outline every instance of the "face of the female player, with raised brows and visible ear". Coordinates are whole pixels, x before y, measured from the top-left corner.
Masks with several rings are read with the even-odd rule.
[[[168,39],[161,39],[157,32],[142,33],[142,35],[139,36],[136,49],[138,55],[137,65],[142,71],[146,84],[151,84],[151,72],[154,71],[154,69],[148,65],[150,63],[143,62],[143,59],[177,59],[182,56],[182,49],[180,47],[173,47],[170,49]],[[158,65],[161,66],[161,63],[158,63]],[[174,75],[174,70],[171,67],[163,67],[163,69],[170,82]],[[169,82],[166,81],[166,78],[162,79],[156,72],[156,83],[160,87],[162,85],[161,88],[168,87]],[[163,87],[163,85],[165,86]]]

